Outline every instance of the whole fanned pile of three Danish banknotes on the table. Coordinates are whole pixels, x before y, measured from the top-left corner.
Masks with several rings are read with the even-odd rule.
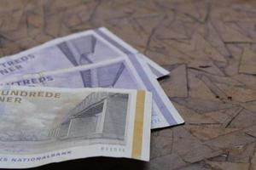
[[[0,167],[90,156],[149,160],[150,129],[183,123],[169,72],[106,28],[0,59]]]

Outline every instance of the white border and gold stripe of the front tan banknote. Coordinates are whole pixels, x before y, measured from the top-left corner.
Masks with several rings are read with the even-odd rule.
[[[20,86],[8,86],[3,87],[0,86],[0,90],[3,89],[16,89],[16,90],[32,90],[32,91],[47,91],[47,92],[80,92],[82,91],[102,91],[102,92],[113,92],[113,93],[125,93],[130,94],[130,106],[131,111],[134,111],[131,114],[132,122],[128,122],[130,128],[127,128],[130,135],[127,135],[127,143],[129,145],[126,147],[127,151],[125,154],[116,154],[113,152],[103,153],[99,150],[101,144],[92,144],[90,146],[76,146],[70,147],[67,149],[61,150],[53,150],[47,151],[40,154],[30,154],[30,155],[6,155],[0,153],[0,167],[1,168],[28,168],[28,167],[38,167],[42,165],[46,165],[53,162],[61,162],[61,161],[70,161],[75,159],[87,158],[87,157],[96,157],[96,156],[108,156],[108,157],[116,157],[116,158],[132,158],[141,161],[149,161],[149,152],[150,152],[150,124],[151,124],[151,111],[152,111],[152,94],[143,91],[143,90],[126,90],[126,89],[117,89],[117,88],[35,88],[35,87],[20,87]],[[139,95],[143,94],[143,95]],[[141,98],[139,97],[141,96]],[[144,100],[143,100],[144,99]],[[143,102],[142,102],[143,101]],[[136,103],[137,102],[137,103]],[[143,106],[142,106],[143,104]],[[143,114],[137,114],[142,111]],[[138,111],[140,110],[140,111]],[[104,144],[102,144],[104,145]],[[105,144],[106,145],[106,144]],[[98,148],[98,149],[96,149]],[[61,153],[65,153],[61,155]],[[52,154],[60,154],[59,157],[50,157]],[[19,162],[11,162],[12,158],[20,158]],[[42,161],[32,161],[32,158],[35,157],[45,157]],[[26,161],[24,161],[26,159]],[[30,159],[30,161],[28,161]],[[23,161],[22,161],[23,160]]]

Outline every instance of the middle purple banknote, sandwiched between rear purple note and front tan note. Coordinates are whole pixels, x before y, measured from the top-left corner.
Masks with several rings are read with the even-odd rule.
[[[152,84],[150,89],[148,84]],[[153,92],[152,128],[168,127],[182,123],[182,118],[173,107],[160,85],[143,82],[133,69],[129,59],[108,59],[102,63],[82,65],[59,71],[45,71],[21,77],[9,77],[0,85],[44,86],[57,88],[129,88]],[[171,121],[166,117],[172,117]]]

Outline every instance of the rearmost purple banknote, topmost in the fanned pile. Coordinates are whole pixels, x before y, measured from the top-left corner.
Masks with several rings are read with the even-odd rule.
[[[1,58],[0,79],[11,75],[90,65],[124,55],[96,32],[97,29],[56,38],[19,54]],[[119,45],[128,46],[125,42]],[[134,49],[133,53],[138,52]],[[169,73],[153,60],[145,56],[143,58],[150,65],[154,77],[163,77]]]

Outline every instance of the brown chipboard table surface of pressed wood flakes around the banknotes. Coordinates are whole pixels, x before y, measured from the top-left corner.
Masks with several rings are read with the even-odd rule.
[[[253,0],[1,0],[0,55],[106,26],[171,71],[160,80],[185,125],[154,130],[151,160],[41,168],[256,169]]]

